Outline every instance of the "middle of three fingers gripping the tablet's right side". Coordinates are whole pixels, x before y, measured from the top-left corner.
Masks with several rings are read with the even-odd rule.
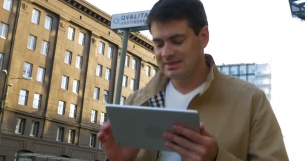
[[[195,142],[192,142],[185,137],[178,136],[169,132],[165,132],[163,136],[166,140],[174,142],[175,144],[182,146],[187,150],[195,151],[198,153],[202,151],[203,146],[200,146],[199,144],[196,144]]]

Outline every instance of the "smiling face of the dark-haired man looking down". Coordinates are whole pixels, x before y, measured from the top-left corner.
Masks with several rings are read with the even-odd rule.
[[[186,20],[151,23],[157,63],[171,79],[183,80],[203,61],[202,32],[196,36]]]

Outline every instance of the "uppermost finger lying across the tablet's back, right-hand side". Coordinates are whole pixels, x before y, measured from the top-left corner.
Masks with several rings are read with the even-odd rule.
[[[173,130],[176,134],[185,136],[186,138],[188,138],[189,140],[191,140],[193,142],[197,142],[199,144],[203,144],[203,142],[204,142],[202,135],[191,129],[174,125]]]

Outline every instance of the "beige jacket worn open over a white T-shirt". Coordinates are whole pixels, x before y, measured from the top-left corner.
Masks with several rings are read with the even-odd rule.
[[[218,71],[212,56],[206,87],[190,102],[200,122],[217,138],[217,161],[288,160],[283,136],[264,93],[255,86]],[[165,90],[169,78],[158,72],[146,87],[131,94],[125,104],[151,106],[149,98]],[[137,160],[156,161],[157,151],[141,149]]]

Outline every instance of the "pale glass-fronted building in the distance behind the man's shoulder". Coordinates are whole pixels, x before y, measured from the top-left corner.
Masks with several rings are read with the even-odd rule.
[[[223,64],[217,66],[219,71],[247,81],[262,90],[271,101],[271,67],[270,64]]]

